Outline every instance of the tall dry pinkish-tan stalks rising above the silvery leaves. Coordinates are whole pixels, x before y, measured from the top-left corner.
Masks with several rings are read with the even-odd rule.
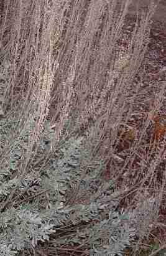
[[[6,84],[1,108],[6,116],[19,114],[11,144],[1,152],[1,166],[29,118],[36,117],[36,123],[19,170],[21,179],[45,119],[55,129],[53,149],[71,120],[67,136],[87,131],[92,157],[105,161],[103,179],[129,191],[121,196],[119,209],[137,212],[133,221],[141,242],[156,227],[165,196],[165,131],[162,136],[158,126],[149,131],[154,120],[148,113],[160,112],[165,86],[155,100],[146,99],[154,104],[144,113],[139,107],[141,80],[136,80],[144,66],[155,6],[137,14],[127,45],[122,45],[131,1],[122,2],[120,9],[116,0],[2,2],[0,60]]]

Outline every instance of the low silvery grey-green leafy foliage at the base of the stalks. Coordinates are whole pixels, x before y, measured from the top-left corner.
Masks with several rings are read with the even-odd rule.
[[[15,118],[17,117],[0,120],[1,152],[10,143],[9,134],[17,123]],[[90,191],[91,181],[99,175],[103,166],[101,159],[89,161],[90,151],[84,148],[83,137],[60,141],[56,153],[50,153],[47,163],[40,169],[40,164],[36,166],[36,161],[45,156],[46,150],[49,152],[54,134],[46,121],[37,149],[34,149],[29,170],[24,178],[19,179],[17,163],[22,154],[26,156],[29,136],[34,125],[35,120],[26,123],[25,130],[22,130],[9,146],[7,164],[1,168],[1,203],[13,189],[16,189],[16,201],[1,212],[0,255],[17,255],[22,250],[35,247],[39,242],[49,240],[50,235],[56,234],[57,229],[65,229],[66,225],[76,226],[77,231],[69,239],[58,238],[57,245],[62,242],[81,244],[86,239],[91,255],[121,255],[122,250],[133,238],[133,230],[130,230],[127,222],[124,223],[118,212],[114,212],[114,208],[109,209],[108,217],[101,219],[101,212],[105,211],[107,206],[99,201],[86,205],[65,206],[65,195],[72,183],[80,179],[83,168],[87,169],[87,173],[81,181],[81,187]],[[11,178],[15,172],[16,176]],[[43,193],[44,197],[37,196],[42,191],[47,191]],[[32,195],[35,194],[36,197],[33,198]],[[27,201],[24,200],[25,197]],[[93,225],[79,231],[81,223],[88,224],[92,220],[95,220]]]

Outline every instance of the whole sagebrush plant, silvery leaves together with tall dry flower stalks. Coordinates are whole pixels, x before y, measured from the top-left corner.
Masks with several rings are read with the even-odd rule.
[[[136,235],[152,229],[156,199],[136,206],[136,196],[142,204],[138,191],[131,204],[136,209],[123,214],[118,189],[130,191],[128,182],[116,187],[111,180],[131,177],[128,166],[129,176],[122,175],[128,153],[122,168],[111,158],[116,127],[132,114],[139,89],[133,80],[149,42],[153,9],[140,22],[137,17],[121,56],[118,41],[130,2],[119,11],[116,0],[4,1],[0,255],[35,255],[50,245],[57,255],[58,248],[73,247],[71,255],[81,248],[90,255],[121,256]]]

